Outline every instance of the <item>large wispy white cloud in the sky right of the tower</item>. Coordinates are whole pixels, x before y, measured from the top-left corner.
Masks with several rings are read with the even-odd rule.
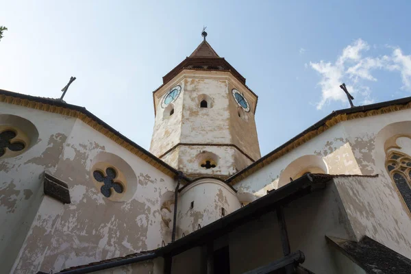
[[[316,108],[321,109],[330,101],[348,103],[345,92],[340,89],[340,84],[345,82],[349,92],[356,97],[360,104],[373,103],[369,86],[365,81],[376,82],[374,70],[399,71],[401,73],[403,89],[411,90],[411,55],[403,55],[401,49],[393,48],[393,55],[377,57],[366,56],[370,46],[362,39],[354,41],[343,49],[337,56],[336,62],[310,62],[314,71],[321,75],[318,85],[321,87],[321,99],[316,103]]]

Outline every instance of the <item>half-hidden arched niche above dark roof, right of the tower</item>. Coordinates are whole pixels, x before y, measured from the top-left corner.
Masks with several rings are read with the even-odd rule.
[[[328,173],[327,164],[323,158],[317,155],[303,155],[292,161],[281,173],[278,180],[278,187],[285,186],[290,182],[290,178],[295,180],[305,173]]]

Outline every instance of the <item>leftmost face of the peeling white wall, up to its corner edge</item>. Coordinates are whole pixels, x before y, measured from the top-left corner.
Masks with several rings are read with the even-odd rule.
[[[28,151],[0,160],[0,264],[8,273],[40,206],[42,174],[55,171],[75,119],[8,103],[0,103],[0,114],[23,117],[38,130]]]

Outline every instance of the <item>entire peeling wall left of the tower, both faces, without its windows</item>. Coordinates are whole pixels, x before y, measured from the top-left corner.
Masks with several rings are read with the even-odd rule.
[[[32,121],[39,132],[29,151],[0,160],[2,266],[14,262],[14,273],[57,272],[155,249],[167,240],[171,232],[160,205],[162,196],[174,191],[173,178],[82,121],[15,105],[1,110]],[[121,200],[103,197],[92,182],[95,159],[120,171],[124,163],[129,166]],[[45,171],[69,185],[70,204],[44,196]]]

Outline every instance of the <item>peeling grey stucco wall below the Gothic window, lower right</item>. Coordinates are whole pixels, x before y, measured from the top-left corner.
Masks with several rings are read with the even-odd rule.
[[[356,240],[369,236],[411,258],[411,219],[389,177],[335,178],[334,182]]]

